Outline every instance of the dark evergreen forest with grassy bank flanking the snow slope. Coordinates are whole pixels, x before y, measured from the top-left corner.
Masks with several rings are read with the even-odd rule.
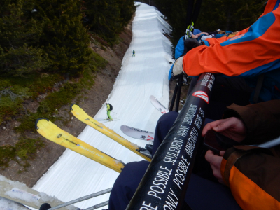
[[[190,0],[142,0],[155,6],[169,22],[167,34],[176,46],[186,31]],[[195,28],[239,31],[250,26],[262,13],[266,1],[204,0]],[[0,125],[15,118],[20,139],[15,146],[0,145],[0,168],[10,160],[22,160],[43,147],[40,139],[25,132],[35,131],[34,122],[54,113],[94,83],[94,72],[104,69],[106,60],[90,48],[120,42],[119,34],[132,20],[137,2],[132,0],[1,0],[0,6]],[[59,90],[56,83],[64,81]],[[31,113],[22,104],[46,97]]]

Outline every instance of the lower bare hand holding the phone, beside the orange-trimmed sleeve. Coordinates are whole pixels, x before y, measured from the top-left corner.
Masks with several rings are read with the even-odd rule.
[[[205,153],[205,159],[210,163],[214,176],[218,179],[219,183],[223,183],[223,184],[225,183],[223,181],[223,176],[221,174],[221,163],[224,154],[225,151],[220,151],[219,155],[215,155],[215,153],[211,150]]]

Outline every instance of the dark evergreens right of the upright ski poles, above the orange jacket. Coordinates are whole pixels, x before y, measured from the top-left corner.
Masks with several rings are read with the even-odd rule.
[[[204,31],[241,31],[258,19],[265,4],[262,0],[204,0],[197,27]]]

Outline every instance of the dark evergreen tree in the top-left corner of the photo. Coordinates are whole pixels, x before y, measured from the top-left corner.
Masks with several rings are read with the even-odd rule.
[[[0,9],[0,73],[27,76],[46,66],[43,51],[36,46],[41,25],[31,18],[34,1],[4,0]]]

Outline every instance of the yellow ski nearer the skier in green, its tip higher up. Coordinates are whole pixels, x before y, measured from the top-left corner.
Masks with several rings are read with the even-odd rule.
[[[137,153],[137,155],[140,155],[142,158],[151,161],[150,157],[139,152],[139,151],[146,151],[145,148],[141,148],[137,144],[133,144],[132,142],[128,141],[127,139],[121,137],[119,134],[111,130],[109,127],[106,127],[102,123],[99,123],[97,120],[94,120],[94,118],[92,118],[87,113],[85,113],[85,111],[83,111],[83,109],[80,108],[80,106],[78,106],[77,104],[71,104],[70,110],[78,120],[82,121],[87,125],[90,125],[90,127],[93,127],[99,132],[102,132],[102,134],[117,141],[119,144],[130,149],[132,152]]]

